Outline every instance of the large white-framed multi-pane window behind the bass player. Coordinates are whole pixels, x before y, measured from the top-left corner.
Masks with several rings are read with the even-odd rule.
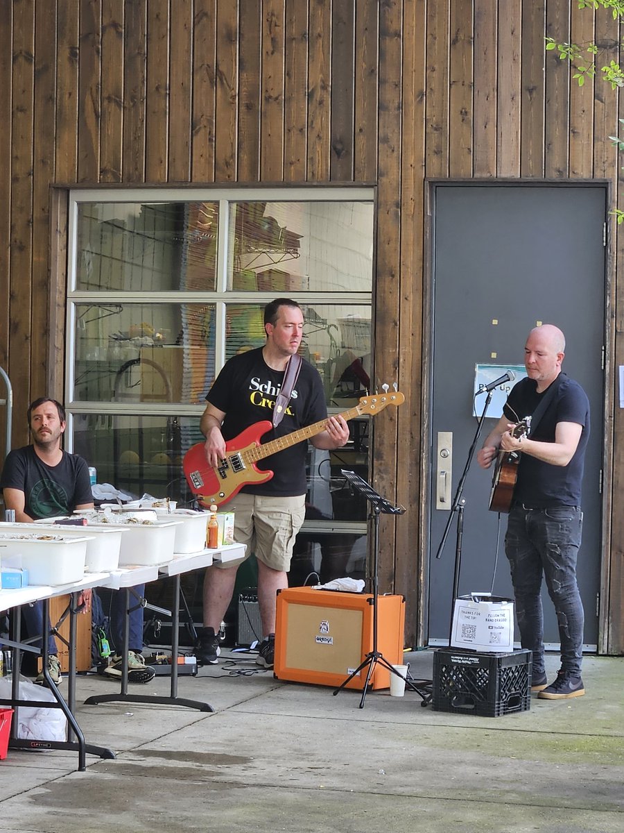
[[[275,297],[304,308],[302,354],[329,411],[364,396],[373,197],[360,188],[72,193],[67,438],[98,481],[192,500],[181,460],[201,440],[206,393],[229,357],[264,343],[262,310]],[[310,448],[300,549],[325,576],[332,560],[358,572],[364,549],[366,509],[340,469],[368,474],[369,417],[350,426],[344,449]]]

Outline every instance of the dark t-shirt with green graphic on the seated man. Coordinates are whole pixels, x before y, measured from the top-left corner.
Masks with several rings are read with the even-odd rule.
[[[47,466],[32,446],[10,451],[4,461],[0,489],[19,489],[25,496],[24,511],[37,521],[69,515],[93,500],[87,463],[77,454],[63,451],[57,466]]]

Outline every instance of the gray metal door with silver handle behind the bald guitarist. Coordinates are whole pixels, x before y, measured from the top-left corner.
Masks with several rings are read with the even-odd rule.
[[[475,365],[523,365],[527,334],[543,322],[556,324],[565,333],[563,370],[580,382],[592,407],[578,578],[585,606],[584,641],[588,648],[597,645],[606,215],[606,187],[594,184],[444,183],[433,187],[429,644],[448,643],[458,512],[436,506],[449,506],[440,503],[444,478],[446,498],[450,496],[452,505],[476,431]],[[485,398],[477,397],[477,414]],[[484,421],[478,447],[494,421]],[[503,541],[507,517],[502,516],[499,528],[498,515],[488,510],[490,486],[490,472],[474,459],[463,489],[460,595],[489,591],[492,584],[496,595],[512,591]],[[452,525],[437,558],[449,514]],[[545,642],[557,646],[557,621],[546,591],[544,620]]]

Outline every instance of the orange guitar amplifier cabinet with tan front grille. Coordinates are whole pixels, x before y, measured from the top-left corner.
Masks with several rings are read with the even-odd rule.
[[[377,650],[391,665],[403,661],[404,596],[378,596]],[[373,596],[289,587],[278,592],[275,666],[278,680],[340,686],[373,651]],[[347,688],[362,691],[368,666]],[[377,662],[372,688],[388,688],[390,672]]]

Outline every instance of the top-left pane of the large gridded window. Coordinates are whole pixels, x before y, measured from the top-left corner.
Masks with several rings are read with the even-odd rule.
[[[76,288],[215,290],[217,202],[81,202]]]

